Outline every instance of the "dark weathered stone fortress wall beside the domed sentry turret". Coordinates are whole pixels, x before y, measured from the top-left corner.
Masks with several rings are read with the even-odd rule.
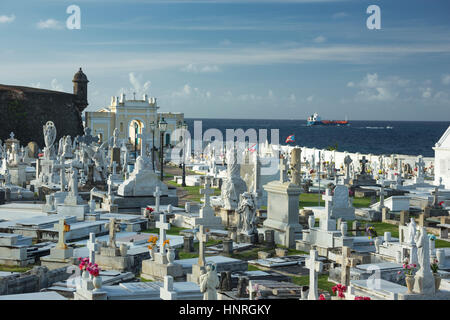
[[[56,142],[64,135],[83,134],[83,123],[73,94],[26,87],[0,85],[0,139],[14,132],[22,145],[35,141],[43,148],[42,127],[53,121]]]

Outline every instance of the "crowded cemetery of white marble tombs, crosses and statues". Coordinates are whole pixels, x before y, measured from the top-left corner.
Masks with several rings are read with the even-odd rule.
[[[38,154],[0,143],[0,300],[450,299],[433,158],[266,142],[161,161],[145,133],[42,130]]]

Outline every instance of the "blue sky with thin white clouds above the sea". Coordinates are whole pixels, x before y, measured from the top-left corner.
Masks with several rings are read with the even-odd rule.
[[[66,26],[81,8],[81,30]],[[381,30],[366,9],[381,8]],[[2,0],[0,83],[88,110],[148,93],[194,118],[450,119],[446,0]]]

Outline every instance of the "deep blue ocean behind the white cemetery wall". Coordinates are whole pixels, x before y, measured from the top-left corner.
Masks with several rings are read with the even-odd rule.
[[[202,121],[202,130],[219,129],[224,138],[226,129],[279,129],[280,144],[295,135],[292,145],[338,151],[372,154],[406,154],[434,157],[432,149],[450,121],[351,121],[349,126],[307,127],[306,120],[250,120],[250,119],[186,119],[193,137],[194,121]]]

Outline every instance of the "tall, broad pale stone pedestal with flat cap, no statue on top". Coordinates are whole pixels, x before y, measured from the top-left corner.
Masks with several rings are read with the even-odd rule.
[[[275,243],[289,248],[295,247],[296,238],[301,237],[299,221],[299,196],[301,188],[293,183],[273,181],[264,186],[267,191],[266,229],[275,232]]]

